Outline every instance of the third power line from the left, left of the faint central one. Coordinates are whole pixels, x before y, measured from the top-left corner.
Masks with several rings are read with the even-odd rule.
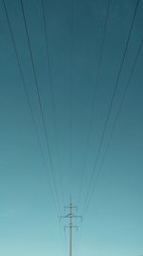
[[[62,170],[61,170],[60,150],[59,150],[59,144],[58,144],[58,132],[57,132],[56,112],[55,112],[54,94],[53,94],[53,81],[52,81],[52,75],[51,75],[50,43],[49,43],[49,36],[48,36],[48,28],[47,28],[44,0],[41,0],[41,4],[42,4],[42,16],[43,16],[43,22],[44,22],[44,35],[45,35],[45,41],[46,41],[47,68],[48,68],[49,78],[50,78],[51,105],[52,105],[53,123],[54,123],[53,125],[54,125],[57,153],[59,156],[58,159],[60,161],[60,163],[59,163],[59,178],[60,178],[60,183],[61,183],[60,187],[61,187],[62,200],[63,200],[63,204],[64,204],[63,178],[62,178]]]

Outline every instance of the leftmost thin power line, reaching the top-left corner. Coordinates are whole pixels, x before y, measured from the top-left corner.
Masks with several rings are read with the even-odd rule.
[[[31,99],[30,99],[29,92],[28,92],[28,85],[27,85],[27,82],[26,82],[24,74],[23,74],[23,69],[22,69],[22,66],[21,66],[21,61],[20,61],[20,58],[19,58],[19,54],[18,54],[15,38],[14,38],[14,35],[13,35],[13,32],[12,32],[12,28],[11,28],[11,25],[10,25],[10,17],[9,17],[9,14],[8,14],[8,11],[7,11],[5,0],[3,0],[3,7],[4,7],[4,11],[6,13],[6,18],[7,18],[7,22],[8,22],[8,26],[9,26],[9,30],[10,30],[10,37],[11,37],[14,53],[15,53],[15,56],[16,56],[16,59],[17,59],[19,74],[20,74],[20,77],[21,77],[21,80],[22,80],[22,83],[23,83],[23,86],[24,86],[24,91],[25,91],[26,99],[27,99],[28,105],[30,107],[31,121],[32,121],[32,124],[33,124],[33,128],[35,130],[35,135],[37,137],[39,151],[40,151],[41,156],[42,156],[42,160],[43,160],[44,168],[45,168],[45,171],[46,171],[46,175],[48,175],[47,167],[46,167],[46,163],[45,163],[45,157],[44,157],[44,153],[43,153],[43,150],[42,150],[42,147],[41,147],[41,142],[40,142],[38,130],[37,130],[35,119],[34,119],[34,113],[33,113],[32,107],[31,107]],[[50,190],[51,190],[51,196],[52,196],[52,199],[53,199],[53,204],[54,204],[56,213],[58,215],[58,207],[57,207],[57,204],[56,204],[56,200],[54,198],[54,193],[52,191],[52,186],[51,186],[51,181],[50,181],[50,176],[49,175],[47,176],[47,179],[48,179]]]

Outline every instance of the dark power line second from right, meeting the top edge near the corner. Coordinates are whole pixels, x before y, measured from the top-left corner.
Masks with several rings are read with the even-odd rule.
[[[133,31],[133,24],[134,24],[135,15],[136,15],[136,12],[137,12],[139,1],[140,0],[137,0],[136,4],[135,4],[135,8],[134,8],[134,12],[133,12],[132,24],[131,24],[131,27],[130,27],[129,35],[127,37],[127,41],[126,41],[126,45],[125,45],[125,50],[124,50],[124,53],[123,53],[123,57],[122,57],[121,64],[120,64],[120,67],[119,67],[117,79],[116,79],[116,82],[115,82],[115,85],[114,85],[114,88],[113,88],[113,92],[112,92],[112,100],[111,100],[111,103],[110,103],[110,106],[109,106],[109,109],[108,109],[108,114],[107,114],[107,117],[106,117],[106,120],[105,120],[105,125],[104,125],[103,132],[102,132],[102,135],[101,135],[98,151],[97,151],[97,153],[95,155],[92,176],[91,176],[91,180],[90,180],[90,183],[89,183],[89,186],[88,186],[88,192],[87,192],[87,196],[86,196],[85,203],[84,203],[84,208],[83,208],[84,213],[87,210],[87,208],[89,206],[89,203],[91,201],[91,198],[92,198],[92,194],[93,194],[92,183],[93,183],[93,180],[94,180],[94,175],[95,175],[95,171],[96,171],[96,168],[97,168],[97,163],[98,163],[99,155],[100,155],[101,148],[102,148],[102,145],[103,145],[103,141],[104,141],[104,138],[105,138],[106,129],[107,129],[107,126],[108,126],[108,123],[109,123],[109,120],[110,120],[111,113],[112,113],[112,105],[113,105],[115,93],[116,93],[116,90],[117,90],[117,87],[118,87],[118,83],[119,83],[119,80],[120,80],[122,67],[123,67],[123,64],[124,64],[124,61],[125,61],[125,57],[126,57],[126,54],[127,54],[127,49],[128,49],[128,46],[129,46],[129,41],[130,41],[131,34],[132,34],[132,31]]]

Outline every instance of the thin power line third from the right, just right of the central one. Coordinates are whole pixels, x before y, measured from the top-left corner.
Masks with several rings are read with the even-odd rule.
[[[82,174],[81,174],[81,182],[80,182],[80,186],[79,186],[79,197],[78,197],[78,204],[79,205],[80,205],[80,202],[81,202],[81,195],[82,195],[82,192],[83,192],[84,176],[85,176],[85,169],[86,169],[86,163],[87,163],[87,154],[88,154],[88,150],[89,150],[89,143],[90,143],[91,131],[92,131],[93,110],[94,110],[94,105],[95,105],[95,100],[96,100],[96,95],[97,95],[97,90],[98,90],[100,70],[101,70],[101,65],[102,65],[102,60],[103,60],[103,50],[104,50],[105,39],[106,39],[107,24],[108,24],[109,10],[110,10],[110,2],[111,2],[111,0],[108,0],[105,22],[104,22],[103,35],[102,35],[102,41],[101,41],[101,47],[100,47],[100,56],[99,56],[98,68],[97,68],[97,73],[96,73],[96,77],[95,77],[95,84],[94,84],[94,88],[93,88],[92,111],[91,111],[91,115],[90,115],[90,128],[88,130],[88,136],[87,136],[87,139],[86,139],[86,148],[85,148],[85,152],[84,152],[84,164],[83,164],[83,170],[82,170]]]

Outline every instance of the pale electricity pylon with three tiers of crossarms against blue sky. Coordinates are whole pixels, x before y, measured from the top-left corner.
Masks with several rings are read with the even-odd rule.
[[[69,214],[66,215],[66,216],[61,216],[60,219],[64,218],[64,219],[68,219],[69,220],[69,224],[65,225],[64,229],[69,228],[69,255],[72,256],[72,228],[76,228],[77,229],[77,227],[78,227],[77,225],[73,225],[72,220],[74,218],[79,218],[79,219],[82,220],[82,217],[78,216],[78,215],[74,215],[72,213],[72,209],[77,209],[76,206],[72,205],[72,198],[71,198],[70,204],[68,206],[66,206],[65,208],[69,209]]]

